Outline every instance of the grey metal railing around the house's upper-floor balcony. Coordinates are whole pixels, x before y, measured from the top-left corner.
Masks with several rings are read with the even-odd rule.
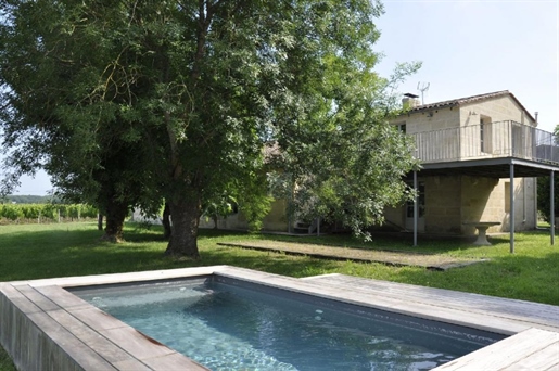
[[[559,137],[507,120],[412,133],[423,163],[516,157],[559,165]]]

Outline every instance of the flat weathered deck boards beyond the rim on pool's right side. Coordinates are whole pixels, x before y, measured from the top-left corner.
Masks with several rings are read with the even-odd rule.
[[[431,308],[433,314],[461,317],[463,322],[479,321],[481,316],[483,327],[509,321],[512,325],[505,324],[503,330],[517,332],[435,370],[559,370],[557,306],[342,274],[305,280],[351,290],[357,295],[382,297],[388,303],[404,299],[410,306]],[[526,329],[516,329],[517,325]]]

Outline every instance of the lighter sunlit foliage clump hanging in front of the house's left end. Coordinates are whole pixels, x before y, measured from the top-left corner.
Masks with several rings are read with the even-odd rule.
[[[330,60],[340,63],[336,56]],[[291,177],[297,218],[341,221],[368,238],[367,228],[383,221],[385,207],[412,195],[404,177],[419,163],[411,155],[410,139],[389,125],[397,111],[383,89],[419,64],[399,68],[391,81],[378,80],[368,71],[327,69],[333,79],[323,92],[329,104],[297,129],[304,144],[283,148],[283,169]]]

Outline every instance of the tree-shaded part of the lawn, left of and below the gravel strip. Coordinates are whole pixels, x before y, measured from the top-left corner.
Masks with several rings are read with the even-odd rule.
[[[287,276],[310,276],[331,266],[330,261],[263,254],[240,248],[224,250],[216,241],[244,238],[245,233],[201,230],[200,260],[175,259],[164,255],[167,241],[160,228],[127,226],[126,242],[99,239],[97,226],[25,227],[0,231],[0,281],[53,277],[103,274],[141,270],[212,265],[234,265]],[[310,263],[313,260],[313,263]]]

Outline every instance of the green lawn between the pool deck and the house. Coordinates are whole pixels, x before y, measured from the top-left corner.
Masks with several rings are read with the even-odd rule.
[[[548,232],[544,231],[517,233],[516,254],[510,254],[508,234],[492,238],[493,246],[473,246],[470,241],[459,239],[420,238],[419,246],[411,247],[409,238],[402,236],[376,238],[365,243],[346,235],[290,238],[204,230],[199,238],[202,258],[195,261],[165,257],[166,242],[156,227],[148,230],[129,225],[125,229],[127,241],[116,245],[99,241],[100,234],[96,223],[0,226],[0,281],[231,265],[291,277],[335,272],[559,305],[559,241],[551,246]],[[217,244],[254,239],[488,260],[448,271],[432,271],[419,267],[322,260]],[[0,371],[8,370],[15,369],[0,349]]]

